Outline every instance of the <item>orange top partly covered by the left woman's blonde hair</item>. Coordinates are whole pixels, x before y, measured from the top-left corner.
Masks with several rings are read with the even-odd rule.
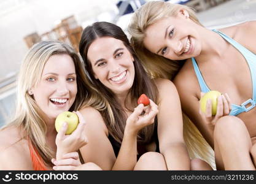
[[[28,146],[29,146],[30,157],[33,164],[34,171],[46,171],[47,167],[45,166],[43,159],[39,155],[36,148],[34,148],[29,138],[28,138]]]

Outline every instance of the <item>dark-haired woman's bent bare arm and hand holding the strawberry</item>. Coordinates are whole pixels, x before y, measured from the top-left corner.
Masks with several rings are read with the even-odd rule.
[[[157,115],[157,105],[150,101],[150,110],[147,115],[139,116],[144,106],[138,105],[126,120],[125,132],[117,158],[111,142],[107,137],[107,128],[100,113],[87,108],[80,110],[87,121],[85,132],[88,144],[80,148],[85,162],[97,164],[103,170],[133,170],[137,162],[137,134],[139,129],[153,123]]]

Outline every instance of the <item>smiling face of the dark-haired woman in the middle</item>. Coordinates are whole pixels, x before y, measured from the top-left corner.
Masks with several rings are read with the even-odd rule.
[[[133,56],[122,40],[100,37],[88,48],[95,79],[115,94],[130,90],[134,80]]]

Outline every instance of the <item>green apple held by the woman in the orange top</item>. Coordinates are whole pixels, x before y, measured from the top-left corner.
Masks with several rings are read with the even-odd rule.
[[[69,135],[77,128],[79,118],[74,112],[65,111],[60,113],[55,120],[55,129],[57,132],[60,131],[64,122],[68,123],[68,129],[66,130],[65,134]]]

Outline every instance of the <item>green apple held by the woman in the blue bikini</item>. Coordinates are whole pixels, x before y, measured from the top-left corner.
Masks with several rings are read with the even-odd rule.
[[[217,98],[222,95],[219,91],[209,91],[204,94],[204,96],[200,99],[200,107],[201,111],[206,113],[206,103],[208,99],[212,100],[212,115],[216,115],[217,112]]]

